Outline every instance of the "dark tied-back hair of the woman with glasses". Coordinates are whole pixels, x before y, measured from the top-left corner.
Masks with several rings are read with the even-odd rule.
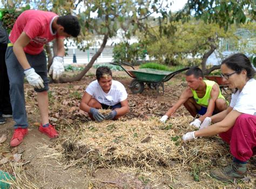
[[[248,57],[242,53],[230,55],[230,57],[221,62],[221,65],[223,64],[233,71],[238,72],[238,74],[245,69],[247,72],[247,78],[249,79],[252,79],[255,74],[250,59],[248,59]]]

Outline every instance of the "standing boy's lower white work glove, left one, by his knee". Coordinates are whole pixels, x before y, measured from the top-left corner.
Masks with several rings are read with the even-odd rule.
[[[44,88],[44,81],[41,76],[35,72],[34,68],[26,69],[24,74],[26,75],[26,80],[28,80],[30,85],[38,89]]]

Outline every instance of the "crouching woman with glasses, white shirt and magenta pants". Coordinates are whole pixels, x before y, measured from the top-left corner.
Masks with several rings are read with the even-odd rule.
[[[233,181],[246,176],[247,160],[256,155],[256,80],[254,68],[246,55],[233,54],[221,63],[221,76],[233,89],[230,107],[206,117],[198,131],[187,132],[183,140],[219,136],[230,145],[232,164],[213,170],[218,180]],[[213,122],[214,124],[211,124]]]

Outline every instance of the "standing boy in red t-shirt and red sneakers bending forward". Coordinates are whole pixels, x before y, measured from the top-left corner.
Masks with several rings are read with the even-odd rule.
[[[78,19],[67,15],[58,17],[53,12],[27,10],[16,20],[10,33],[6,50],[6,67],[10,80],[12,116],[16,124],[10,145],[19,145],[28,133],[28,120],[25,110],[24,74],[29,84],[37,92],[41,115],[39,131],[50,138],[57,137],[55,128],[49,123],[47,61],[43,45],[56,39],[57,56],[53,58],[49,74],[58,79],[64,72],[64,38],[77,37],[80,32]]]

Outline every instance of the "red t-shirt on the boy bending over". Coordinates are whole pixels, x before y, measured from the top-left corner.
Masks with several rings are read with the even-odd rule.
[[[31,39],[30,43],[24,47],[24,51],[28,54],[41,53],[44,44],[59,37],[56,33],[53,33],[51,27],[53,19],[57,16],[56,13],[40,10],[22,12],[10,33],[11,43],[14,44],[24,31]]]

